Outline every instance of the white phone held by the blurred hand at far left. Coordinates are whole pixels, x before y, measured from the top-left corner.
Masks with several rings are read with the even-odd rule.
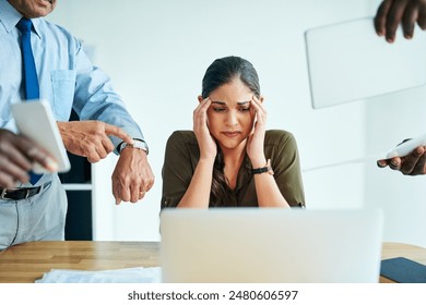
[[[50,105],[44,100],[23,101],[12,105],[12,114],[19,132],[45,148],[58,162],[58,172],[67,172],[71,164],[59,133]],[[48,172],[34,164],[35,173]]]

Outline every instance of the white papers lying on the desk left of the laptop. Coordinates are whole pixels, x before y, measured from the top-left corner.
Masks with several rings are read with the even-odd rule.
[[[161,267],[86,271],[52,269],[36,283],[159,283]]]

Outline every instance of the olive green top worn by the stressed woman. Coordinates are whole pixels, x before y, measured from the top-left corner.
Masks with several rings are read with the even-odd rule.
[[[305,206],[299,156],[296,139],[286,131],[267,131],[264,156],[271,159],[274,179],[291,206]],[[167,141],[163,164],[162,208],[176,207],[187,192],[197,163],[200,149],[192,131],[176,131]],[[238,172],[237,184],[228,206],[257,207],[258,198],[251,162],[247,154]],[[262,173],[268,174],[268,173]]]

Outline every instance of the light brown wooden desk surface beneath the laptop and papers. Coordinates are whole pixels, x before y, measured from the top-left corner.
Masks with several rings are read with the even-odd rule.
[[[33,242],[0,252],[0,282],[29,283],[50,269],[109,270],[158,266],[158,243]],[[382,259],[403,256],[426,265],[426,248],[384,243]],[[392,282],[380,277],[380,282]]]

